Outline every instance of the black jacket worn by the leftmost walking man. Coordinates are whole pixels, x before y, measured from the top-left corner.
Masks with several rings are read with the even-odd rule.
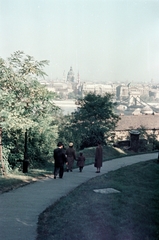
[[[55,167],[62,167],[67,159],[65,157],[65,151],[63,148],[56,148],[54,150],[54,159],[55,159]]]

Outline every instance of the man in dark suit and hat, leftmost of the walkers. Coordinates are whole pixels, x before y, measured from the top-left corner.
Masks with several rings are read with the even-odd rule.
[[[65,156],[65,151],[63,149],[62,142],[58,142],[57,148],[54,149],[54,179],[56,179],[59,174],[59,178],[63,178],[64,164],[67,163],[67,158]]]

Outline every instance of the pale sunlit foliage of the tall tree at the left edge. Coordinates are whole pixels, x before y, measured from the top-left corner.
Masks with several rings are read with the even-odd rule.
[[[0,124],[12,167],[23,158],[26,129],[30,131],[29,158],[32,160],[35,156],[40,158],[44,150],[49,153],[57,137],[59,108],[53,104],[55,94],[38,81],[46,75],[43,72],[46,64],[48,61],[36,61],[20,51],[7,61],[0,58]]]

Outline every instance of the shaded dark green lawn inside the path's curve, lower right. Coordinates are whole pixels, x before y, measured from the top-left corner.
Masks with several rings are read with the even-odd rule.
[[[115,188],[100,194],[94,189]],[[89,180],[46,209],[37,240],[158,240],[159,164],[127,166]]]

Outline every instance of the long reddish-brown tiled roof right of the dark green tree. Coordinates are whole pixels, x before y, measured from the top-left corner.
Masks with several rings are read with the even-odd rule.
[[[159,129],[159,115],[124,115],[120,118],[115,130],[137,129],[141,126],[145,129]]]

